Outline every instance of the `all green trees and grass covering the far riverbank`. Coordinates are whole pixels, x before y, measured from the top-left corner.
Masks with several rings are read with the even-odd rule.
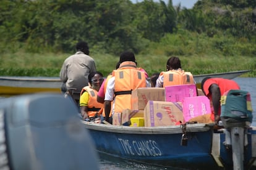
[[[135,52],[149,75],[172,55],[193,75],[252,70],[256,77],[256,1],[0,1],[0,75],[59,76],[75,43],[85,40],[105,76],[122,51]]]

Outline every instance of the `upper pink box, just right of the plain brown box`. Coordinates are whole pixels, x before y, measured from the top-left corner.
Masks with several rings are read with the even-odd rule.
[[[197,86],[195,84],[166,86],[164,88],[166,102],[183,102],[184,97],[197,96]]]

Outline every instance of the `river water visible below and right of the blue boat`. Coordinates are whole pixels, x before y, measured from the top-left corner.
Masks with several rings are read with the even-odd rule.
[[[250,97],[252,99],[252,108],[253,108],[253,121],[252,126],[256,126],[256,78],[235,78],[236,81],[242,90],[248,91],[250,93]],[[152,166],[149,164],[136,163],[134,161],[122,160],[121,158],[111,157],[109,155],[100,154],[100,169],[181,169],[181,168],[167,168],[161,166]],[[198,167],[200,170],[200,167]]]

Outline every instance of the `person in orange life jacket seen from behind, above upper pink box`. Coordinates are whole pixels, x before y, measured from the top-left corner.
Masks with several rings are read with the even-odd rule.
[[[156,79],[155,87],[166,87],[181,84],[195,84],[193,75],[181,68],[181,60],[178,57],[170,57],[166,63],[166,70],[161,71]]]

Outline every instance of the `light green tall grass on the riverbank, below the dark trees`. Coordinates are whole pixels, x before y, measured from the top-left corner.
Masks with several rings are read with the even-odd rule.
[[[96,68],[108,75],[115,67],[119,56],[104,54],[90,49]],[[75,51],[73,52],[75,53]],[[148,75],[166,70],[166,61],[175,55],[181,59],[182,68],[193,75],[220,73],[236,70],[252,70],[243,76],[256,77],[256,45],[248,39],[232,36],[209,38],[205,34],[179,30],[166,34],[160,42],[151,42],[140,54],[136,54],[138,67]],[[1,76],[59,76],[64,60],[72,54],[25,53],[21,49],[1,54]]]

